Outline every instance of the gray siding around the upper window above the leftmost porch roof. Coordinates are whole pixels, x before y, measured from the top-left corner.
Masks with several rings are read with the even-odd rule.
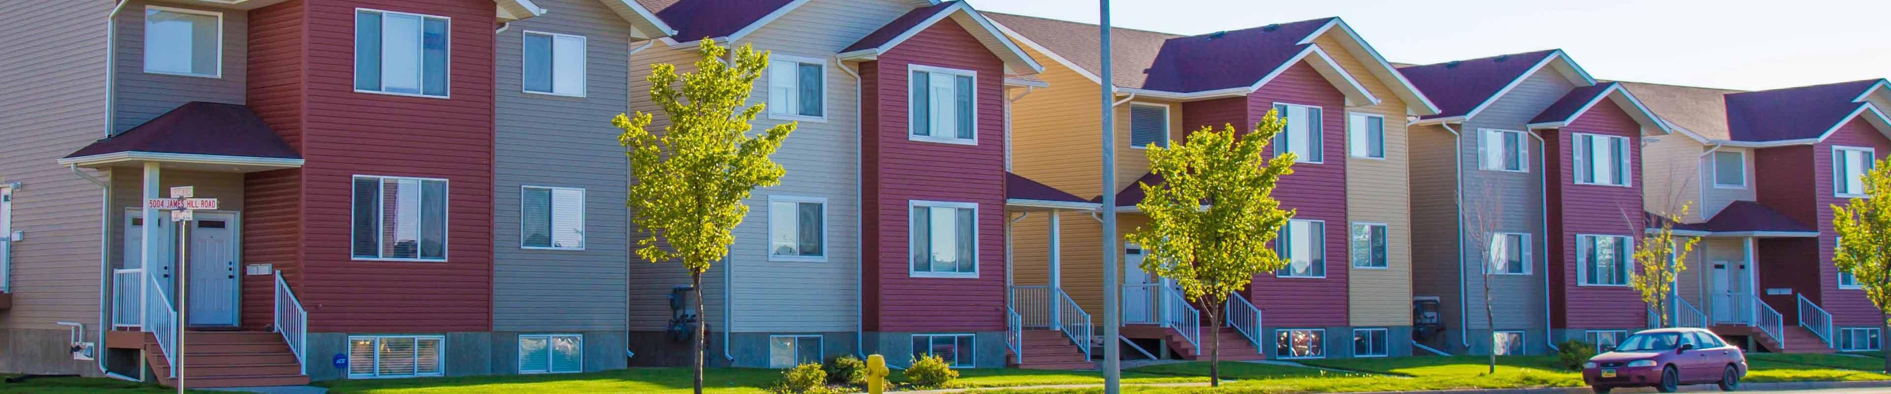
[[[219,78],[174,76],[144,72],[144,13],[146,6],[217,11],[223,15],[223,74]],[[248,55],[246,11],[180,6],[166,2],[127,2],[117,15],[117,123],[113,133],[138,127],[185,102],[244,104],[244,61]]]

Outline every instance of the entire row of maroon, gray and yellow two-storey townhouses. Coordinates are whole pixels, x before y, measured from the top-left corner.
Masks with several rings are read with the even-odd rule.
[[[0,371],[191,386],[1199,358],[1201,305],[1106,250],[1161,184],[1142,150],[1286,131],[1286,269],[1225,305],[1223,356],[1543,354],[1647,328],[1658,218],[1700,248],[1677,324],[1776,352],[1876,349],[1832,203],[1891,152],[1885,80],[1725,91],[1598,80],[1558,49],[1386,61],[1337,17],[1199,36],[936,0],[93,0],[0,4]],[[772,53],[756,127],[798,123],[700,288],[639,261],[622,112],[700,40]],[[100,51],[104,49],[104,51]],[[1112,87],[1118,189],[1097,97]],[[1135,182],[1131,182],[1135,180]],[[146,201],[193,186],[195,222]],[[1101,206],[1114,193],[1118,206]],[[180,224],[191,229],[176,229]],[[183,237],[187,235],[187,237]],[[180,256],[185,246],[185,258]],[[1104,337],[1104,254],[1123,267]],[[180,261],[182,260],[182,261]],[[182,294],[180,294],[182,290]],[[176,299],[187,297],[180,311]],[[1486,313],[1488,305],[1488,313]],[[183,343],[178,333],[183,331]]]

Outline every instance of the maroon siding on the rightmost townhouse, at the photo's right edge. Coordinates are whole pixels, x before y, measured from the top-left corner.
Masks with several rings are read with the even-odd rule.
[[[1817,195],[1813,195],[1817,222],[1819,225],[1819,288],[1825,290],[1823,297],[1806,296],[1832,313],[1832,324],[1836,326],[1878,326],[1883,322],[1882,314],[1872,301],[1865,297],[1865,290],[1840,290],[1838,288],[1838,267],[1832,265],[1832,248],[1838,242],[1838,233],[1832,227],[1832,205],[1846,205],[1849,199],[1832,197],[1832,146],[1855,146],[1872,148],[1878,159],[1891,155],[1891,140],[1878,133],[1865,119],[1853,119],[1827,136],[1812,150],[1812,163],[1815,167]]]

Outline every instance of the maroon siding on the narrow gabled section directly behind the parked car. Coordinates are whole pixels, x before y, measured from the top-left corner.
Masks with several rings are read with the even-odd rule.
[[[1630,140],[1628,188],[1575,184],[1573,133],[1613,134]],[[1619,330],[1647,324],[1641,294],[1628,286],[1581,286],[1577,273],[1577,235],[1622,235],[1639,239],[1641,229],[1641,123],[1621,106],[1598,104],[1564,129],[1545,131],[1547,144],[1556,146],[1556,159],[1547,161],[1556,182],[1549,193],[1549,237],[1554,239],[1547,261],[1551,267],[1551,326]],[[1634,273],[1634,265],[1630,265]]]

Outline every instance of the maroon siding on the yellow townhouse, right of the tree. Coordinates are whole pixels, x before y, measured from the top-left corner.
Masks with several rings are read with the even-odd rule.
[[[1346,97],[1307,63],[1290,66],[1248,95],[1252,129],[1275,102],[1320,106],[1324,163],[1297,163],[1280,178],[1275,197],[1282,208],[1299,210],[1297,220],[1326,222],[1326,278],[1254,277],[1248,299],[1267,313],[1267,326],[1329,328],[1346,326]]]

